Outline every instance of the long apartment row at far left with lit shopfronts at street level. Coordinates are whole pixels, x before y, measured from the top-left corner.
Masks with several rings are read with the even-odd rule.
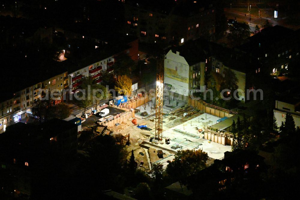
[[[47,93],[54,89],[62,92],[62,89],[68,87],[67,70],[63,62],[53,60],[43,66],[33,65],[28,69],[14,74],[9,68],[3,69],[3,74],[9,73],[12,76],[4,77],[5,84],[1,89],[0,132],[31,114],[33,103],[45,98]],[[55,94],[54,98],[53,105],[60,103],[63,100],[62,93]]]

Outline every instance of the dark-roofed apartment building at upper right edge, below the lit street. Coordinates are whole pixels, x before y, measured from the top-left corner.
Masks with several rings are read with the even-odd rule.
[[[276,72],[288,73],[291,64],[298,63],[300,51],[300,30],[282,26],[262,29],[261,32],[248,38],[248,42],[238,47],[253,57],[263,66],[260,71],[267,74]],[[294,64],[297,67],[297,64]],[[258,68],[254,69],[256,72]]]

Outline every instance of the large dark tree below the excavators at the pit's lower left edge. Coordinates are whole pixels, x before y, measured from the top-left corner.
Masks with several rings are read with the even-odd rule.
[[[84,163],[85,177],[93,188],[108,189],[120,187],[126,162],[125,146],[116,145],[110,135],[97,136],[87,143],[88,160]],[[99,181],[101,180],[101,181]]]

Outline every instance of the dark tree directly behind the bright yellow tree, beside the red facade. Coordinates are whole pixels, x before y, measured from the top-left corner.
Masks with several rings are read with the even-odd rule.
[[[121,53],[115,56],[114,74],[117,76],[130,75],[135,63],[128,54]]]

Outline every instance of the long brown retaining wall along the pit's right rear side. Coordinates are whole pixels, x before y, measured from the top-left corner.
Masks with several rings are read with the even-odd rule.
[[[208,104],[208,103],[202,101],[201,99],[195,100],[195,99],[192,99],[191,97],[189,97],[188,105],[192,106],[204,113],[211,114],[211,115],[214,115],[214,116],[220,117],[220,118],[232,117],[233,115],[238,114],[237,112],[230,111],[225,108],[220,108],[220,107],[212,105],[212,104]]]

